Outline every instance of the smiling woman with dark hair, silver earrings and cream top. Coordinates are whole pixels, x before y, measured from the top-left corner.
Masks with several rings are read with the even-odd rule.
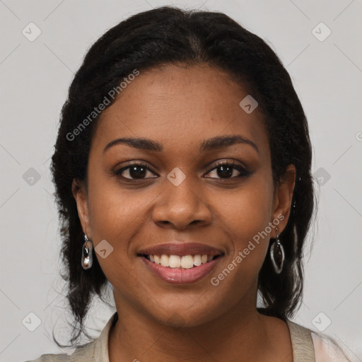
[[[117,312],[36,361],[348,361],[289,320],[311,159],[286,69],[225,14],[162,7],[107,31],[69,88],[52,173],[71,346],[107,284]]]

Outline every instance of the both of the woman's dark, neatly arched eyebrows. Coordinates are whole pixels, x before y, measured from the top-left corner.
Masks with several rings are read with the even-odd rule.
[[[107,149],[118,144],[126,144],[127,146],[138,148],[144,151],[163,151],[162,144],[159,144],[156,141],[152,141],[151,139],[127,137],[111,141],[109,144],[107,144],[107,146],[105,146],[103,153],[107,151]],[[200,145],[200,151],[214,151],[216,149],[233,146],[234,144],[248,144],[252,146],[252,148],[254,148],[257,153],[259,153],[259,148],[257,148],[257,145],[253,141],[250,141],[250,139],[245,139],[245,137],[240,135],[216,136],[211,139],[206,139]]]

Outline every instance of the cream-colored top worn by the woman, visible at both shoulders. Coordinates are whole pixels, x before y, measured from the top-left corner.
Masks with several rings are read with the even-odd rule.
[[[100,336],[79,346],[73,354],[42,354],[26,362],[110,362],[108,358],[108,334],[117,322],[117,312],[108,320]],[[346,358],[343,351],[332,339],[317,334],[308,328],[287,320],[293,346],[293,362],[354,362]]]

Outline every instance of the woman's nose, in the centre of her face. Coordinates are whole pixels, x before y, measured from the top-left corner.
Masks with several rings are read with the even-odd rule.
[[[203,200],[203,192],[192,177],[186,177],[180,185],[165,180],[165,188],[153,207],[153,221],[163,228],[185,229],[190,225],[207,225],[211,211]]]

